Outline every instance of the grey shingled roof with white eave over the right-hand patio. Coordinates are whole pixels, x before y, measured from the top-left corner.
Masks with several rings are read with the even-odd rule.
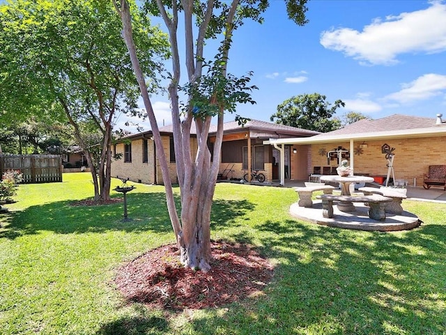
[[[436,119],[394,114],[382,119],[362,119],[344,128],[309,138],[272,139],[264,144],[312,144],[346,140],[377,140],[408,137],[446,135],[446,123],[436,124]]]

